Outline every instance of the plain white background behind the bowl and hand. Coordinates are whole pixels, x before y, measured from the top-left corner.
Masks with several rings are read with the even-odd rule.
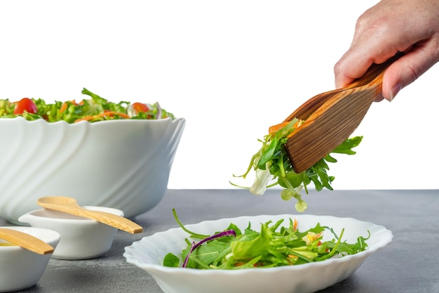
[[[158,101],[187,119],[168,187],[234,188],[271,124],[334,89],[375,3],[1,1],[0,98]],[[335,189],[439,188],[438,70],[372,104],[357,155],[330,166]]]

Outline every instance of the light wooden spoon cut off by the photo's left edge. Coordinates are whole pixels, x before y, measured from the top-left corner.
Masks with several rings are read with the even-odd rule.
[[[0,228],[0,239],[11,242],[13,245],[18,245],[37,254],[51,254],[55,250],[51,245],[48,245],[37,237],[8,228]]]

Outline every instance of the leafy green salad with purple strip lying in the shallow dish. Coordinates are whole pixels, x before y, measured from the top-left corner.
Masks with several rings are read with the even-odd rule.
[[[283,219],[268,221],[261,224],[259,231],[252,229],[250,223],[245,230],[230,223],[214,235],[201,235],[185,228],[175,209],[173,213],[180,227],[198,242],[186,238],[182,263],[179,256],[166,254],[163,266],[168,267],[234,270],[299,265],[363,252],[370,237],[367,231],[367,237],[359,236],[357,242],[346,243],[342,240],[344,229],[337,235],[332,228],[317,223],[309,230],[299,231],[295,219],[288,219],[288,225],[281,225]],[[332,240],[323,241],[325,232],[332,233]]]

